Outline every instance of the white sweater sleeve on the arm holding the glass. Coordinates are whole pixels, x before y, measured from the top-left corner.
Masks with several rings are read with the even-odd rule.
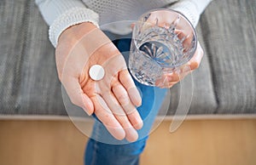
[[[212,0],[180,0],[174,3],[169,9],[174,9],[184,14],[193,26],[196,26],[201,13],[207,8]]]

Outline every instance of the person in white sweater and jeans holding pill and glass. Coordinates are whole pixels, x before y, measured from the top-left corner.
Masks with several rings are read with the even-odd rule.
[[[132,31],[123,20],[137,20],[150,9],[165,8],[184,14],[196,26],[211,0],[35,1],[49,25],[61,83],[72,103],[96,118],[84,163],[138,164],[166,88],[198,68],[203,50],[198,43],[186,64],[189,70],[166,76],[168,81],[160,88],[145,86],[131,77],[121,54],[130,49]],[[119,21],[122,24],[111,24]],[[104,66],[102,80],[90,77],[92,65]]]

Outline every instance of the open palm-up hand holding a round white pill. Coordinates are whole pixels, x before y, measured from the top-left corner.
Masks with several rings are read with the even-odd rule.
[[[143,127],[136,109],[142,100],[123,56],[108,37],[89,22],[72,26],[61,34],[55,58],[72,103],[89,115],[95,113],[114,138],[135,141],[136,129]],[[99,81],[89,76],[90,66],[96,64],[105,70]]]

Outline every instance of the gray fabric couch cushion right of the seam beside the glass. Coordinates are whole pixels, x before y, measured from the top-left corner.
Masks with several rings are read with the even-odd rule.
[[[213,1],[201,31],[218,102],[216,113],[256,112],[256,1]]]

